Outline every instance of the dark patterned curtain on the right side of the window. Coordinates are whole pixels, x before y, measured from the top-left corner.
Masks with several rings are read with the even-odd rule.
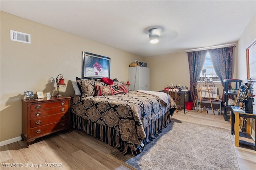
[[[210,49],[209,54],[212,60],[213,68],[220,78],[220,82],[224,87],[224,79],[232,79],[233,71],[233,46],[218,49]],[[231,89],[231,84],[228,83],[228,89]],[[234,100],[234,96],[229,96]],[[224,101],[224,90],[222,91],[222,101]]]

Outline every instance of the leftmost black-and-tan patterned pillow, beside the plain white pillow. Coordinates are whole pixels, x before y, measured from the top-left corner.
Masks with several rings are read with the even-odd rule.
[[[81,92],[82,97],[87,96],[95,96],[95,85],[102,85],[105,86],[106,84],[104,82],[96,82],[94,79],[92,80],[86,80],[86,79],[78,79],[76,80],[78,84],[78,88]]]

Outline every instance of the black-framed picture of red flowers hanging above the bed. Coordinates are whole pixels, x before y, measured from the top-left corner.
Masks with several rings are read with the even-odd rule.
[[[82,52],[82,79],[110,78],[110,58]]]

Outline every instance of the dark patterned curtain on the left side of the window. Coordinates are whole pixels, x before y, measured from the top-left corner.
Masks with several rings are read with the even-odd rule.
[[[196,82],[200,77],[204,65],[207,50],[188,52],[188,66],[190,75],[190,97],[189,101],[196,100]]]

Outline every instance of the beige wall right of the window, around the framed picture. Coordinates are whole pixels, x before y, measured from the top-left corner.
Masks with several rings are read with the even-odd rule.
[[[247,72],[246,72],[246,49],[249,45],[256,39],[256,13],[248,23],[244,33],[241,35],[237,43],[238,59],[237,59],[237,74],[238,79],[247,82]],[[254,83],[254,94],[256,94],[256,83]],[[254,98],[255,99],[255,98]],[[256,110],[256,101],[254,100],[253,110]],[[253,119],[253,121],[255,121]],[[252,123],[252,135],[254,136],[255,126],[254,122]]]

